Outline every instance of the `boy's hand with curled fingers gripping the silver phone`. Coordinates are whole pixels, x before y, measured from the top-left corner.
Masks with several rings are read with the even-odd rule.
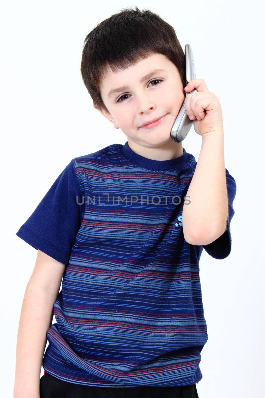
[[[198,91],[188,94],[194,88]],[[186,96],[186,112],[194,120],[194,130],[203,137],[204,134],[223,130],[222,109],[217,96],[210,93],[203,79],[193,79],[184,88]],[[206,113],[205,113],[206,112]],[[196,118],[199,118],[197,120]]]

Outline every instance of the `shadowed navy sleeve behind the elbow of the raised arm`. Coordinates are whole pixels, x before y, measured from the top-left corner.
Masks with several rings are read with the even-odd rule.
[[[233,201],[236,196],[236,181],[229,174],[227,169],[225,169],[225,171],[226,171],[226,186],[227,186],[227,195],[228,195],[228,218],[226,222],[226,230],[214,242],[202,246],[203,249],[205,249],[210,256],[216,259],[224,259],[227,256],[229,256],[232,247],[230,223],[235,213],[233,208]]]

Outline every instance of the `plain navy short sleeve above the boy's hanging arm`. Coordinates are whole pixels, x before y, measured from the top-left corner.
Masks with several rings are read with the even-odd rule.
[[[84,209],[84,205],[79,204],[83,198],[73,162],[66,166],[16,232],[33,248],[64,264],[68,264]]]

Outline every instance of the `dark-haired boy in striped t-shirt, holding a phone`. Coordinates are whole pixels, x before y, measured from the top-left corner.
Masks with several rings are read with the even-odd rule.
[[[137,7],[87,35],[81,74],[127,142],[72,159],[16,233],[38,254],[14,398],[197,397],[207,341],[199,259],[203,248],[230,254],[236,194],[221,105],[204,80],[187,84],[173,27]],[[186,111],[202,139],[198,162],[170,137],[194,88]]]

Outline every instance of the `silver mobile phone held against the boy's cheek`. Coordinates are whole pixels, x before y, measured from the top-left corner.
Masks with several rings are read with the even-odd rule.
[[[190,82],[190,80],[195,79],[195,66],[194,66],[194,57],[193,52],[189,44],[185,46],[185,63],[186,63],[186,82]],[[194,89],[190,93],[186,93],[186,97],[188,94],[197,93],[197,90]],[[187,137],[188,132],[190,131],[191,126],[193,125],[193,120],[187,115],[186,112],[186,98],[183,104],[180,107],[180,111],[178,116],[176,117],[174,124],[172,126],[170,137],[175,142],[181,142],[184,138]]]

